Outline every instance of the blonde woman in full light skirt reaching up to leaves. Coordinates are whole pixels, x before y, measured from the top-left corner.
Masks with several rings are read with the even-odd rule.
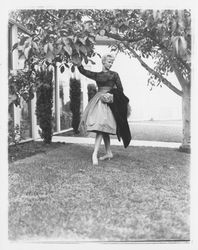
[[[112,88],[117,88],[123,92],[123,87],[118,73],[111,71],[114,57],[107,54],[102,57],[102,71],[92,72],[85,70],[83,66],[78,65],[78,70],[84,76],[96,81],[98,92],[89,101],[80,122],[79,127],[84,131],[95,132],[95,146],[92,154],[93,165],[98,165],[98,151],[102,141],[104,140],[106,154],[100,157],[100,160],[111,159],[113,154],[110,148],[110,134],[116,134],[116,121],[109,105],[102,101],[105,93]],[[111,97],[111,96],[110,96]]]

